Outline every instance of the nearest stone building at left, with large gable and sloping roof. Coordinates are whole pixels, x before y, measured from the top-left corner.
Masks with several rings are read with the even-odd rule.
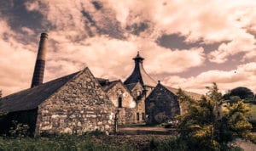
[[[11,94],[3,98],[0,110],[8,113],[0,123],[2,131],[17,120],[36,135],[113,131],[116,112],[88,68]]]

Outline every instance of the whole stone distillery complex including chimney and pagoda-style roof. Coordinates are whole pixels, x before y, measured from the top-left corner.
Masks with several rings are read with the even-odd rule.
[[[0,120],[0,132],[9,131],[12,120],[28,125],[35,135],[113,131],[116,119],[119,125],[154,124],[185,110],[177,101],[177,89],[148,76],[139,53],[124,83],[95,78],[88,68],[43,83],[48,35],[42,33],[40,38],[32,87],[2,99],[0,112],[8,114]]]

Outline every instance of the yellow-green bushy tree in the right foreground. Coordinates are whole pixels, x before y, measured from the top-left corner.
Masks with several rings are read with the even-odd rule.
[[[216,83],[209,90],[207,96],[200,101],[189,98],[182,90],[177,96],[181,102],[187,102],[189,108],[180,117],[178,131],[191,150],[224,150],[228,143],[236,137],[250,138],[252,129],[247,121],[249,112],[246,104],[239,101],[230,106],[227,104]]]

